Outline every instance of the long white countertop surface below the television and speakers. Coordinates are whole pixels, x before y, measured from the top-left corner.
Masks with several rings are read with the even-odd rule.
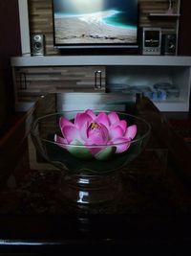
[[[12,67],[83,66],[83,65],[146,65],[191,66],[191,57],[180,56],[43,56],[14,57]]]

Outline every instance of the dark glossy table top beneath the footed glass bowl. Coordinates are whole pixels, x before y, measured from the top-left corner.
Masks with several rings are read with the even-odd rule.
[[[141,109],[141,105],[138,106],[136,99],[130,95],[69,93],[50,94],[42,98],[31,116],[34,119],[63,109],[71,110],[76,105],[81,109],[87,105],[92,108],[98,106],[99,109],[115,107],[143,117],[151,123],[152,133],[146,149],[120,170],[123,182],[122,197],[108,208],[98,206],[94,209],[91,206],[90,209],[77,209],[70,205],[59,192],[62,171],[53,167],[36,151],[29,132],[23,146],[25,150],[5,186],[1,188],[1,214],[172,214],[190,211],[191,191],[179,176],[179,170],[175,168],[166,135],[162,138],[164,142],[160,138],[159,133],[164,127],[164,121],[159,112],[144,107]]]

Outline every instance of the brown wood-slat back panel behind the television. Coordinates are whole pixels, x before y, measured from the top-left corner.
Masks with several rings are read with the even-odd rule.
[[[178,1],[178,0],[176,0]],[[46,38],[46,54],[59,55],[59,50],[53,49],[53,16],[52,0],[29,0],[29,16],[31,33],[42,33]],[[150,19],[150,12],[166,12],[168,0],[139,0],[139,26],[175,29],[175,19]]]

